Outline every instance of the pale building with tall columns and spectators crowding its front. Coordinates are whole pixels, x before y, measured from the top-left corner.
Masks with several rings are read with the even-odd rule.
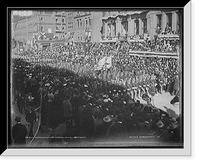
[[[109,11],[103,12],[101,41],[115,42],[118,39],[129,41],[154,38],[160,31],[170,27],[172,31],[179,31],[180,12],[178,10],[162,11]]]

